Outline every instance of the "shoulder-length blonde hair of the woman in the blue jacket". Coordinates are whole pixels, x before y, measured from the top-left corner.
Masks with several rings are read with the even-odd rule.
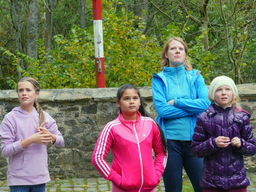
[[[161,60],[161,67],[160,67],[161,71],[164,69],[165,66],[169,66],[169,59],[165,57],[165,52],[168,52],[169,44],[173,40],[179,41],[184,46],[185,52],[186,52],[186,56],[185,56],[185,60],[184,60],[185,69],[187,71],[191,71],[193,68],[190,64],[190,61],[189,61],[188,57],[187,57],[188,56],[188,47],[187,47],[186,43],[180,37],[172,37],[165,44],[164,50],[161,54],[161,59],[162,59]]]

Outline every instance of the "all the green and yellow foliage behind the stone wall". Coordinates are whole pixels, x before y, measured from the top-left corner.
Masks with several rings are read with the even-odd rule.
[[[191,64],[193,68],[202,71],[206,82],[210,82],[213,77],[220,74],[233,76],[238,72],[247,82],[255,81],[256,40],[249,38],[249,32],[244,27],[246,20],[243,20],[245,18],[243,14],[250,14],[250,12],[247,13],[247,8],[242,4],[237,4],[241,11],[236,14],[236,18],[229,13],[230,18],[234,17],[239,22],[234,23],[234,19],[227,20],[230,40],[227,44],[220,8],[224,13],[230,12],[231,8],[227,6],[227,3],[222,7],[216,2],[209,3],[212,8],[212,10],[208,9],[209,20],[211,20],[211,26],[208,26],[211,49],[205,51],[203,43],[204,36],[207,35],[205,29],[190,20],[189,15],[186,16],[180,6],[176,8],[175,2],[166,5],[163,9],[163,12],[168,13],[173,20],[166,19],[166,15],[162,13],[156,14],[146,34],[141,32],[143,30],[139,30],[146,27],[145,21],[140,16],[134,15],[131,12],[132,9],[127,9],[127,4],[123,5],[122,2],[126,1],[102,0],[106,87],[119,87],[126,83],[132,83],[135,86],[150,86],[151,76],[154,72],[160,71],[161,52],[171,36],[180,36],[185,40],[188,44],[188,57]],[[133,1],[129,0],[129,2],[133,4]],[[154,0],[153,2],[156,3]],[[193,4],[193,6],[198,4],[193,0],[191,2],[190,5]],[[44,4],[42,1],[39,3],[39,12],[42,15]],[[8,8],[7,4],[3,2],[1,4],[2,7]],[[9,51],[2,43],[4,41],[0,41],[0,46],[2,46],[0,47],[2,55],[0,88],[15,88],[15,82],[18,81],[19,76],[36,78],[42,88],[94,88],[96,79],[92,7],[88,4],[87,2],[86,11],[89,14],[86,14],[86,20],[88,21],[88,18],[91,20],[86,23],[87,28],[81,29],[77,24],[79,2],[56,1],[53,25],[57,26],[56,30],[54,29],[57,35],[53,36],[52,48],[47,53],[44,51],[43,40],[37,41],[38,59],[12,51],[13,48]],[[172,11],[168,12],[168,10]],[[188,9],[188,13],[200,19],[200,12],[197,10],[193,12]],[[145,14],[144,11],[143,15]],[[10,15],[5,15],[6,20],[10,20]],[[10,21],[8,25],[11,25]],[[6,32],[8,25],[0,28],[0,32],[9,38],[15,32]],[[42,25],[39,20],[39,26],[41,26],[39,33],[42,33]],[[39,36],[42,37],[40,34]],[[232,60],[235,61],[234,65]]]

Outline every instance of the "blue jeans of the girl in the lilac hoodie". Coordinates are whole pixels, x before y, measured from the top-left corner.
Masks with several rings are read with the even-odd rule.
[[[45,183],[39,185],[13,185],[10,192],[45,192]]]

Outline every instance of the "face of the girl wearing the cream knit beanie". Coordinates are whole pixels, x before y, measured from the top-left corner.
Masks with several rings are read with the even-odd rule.
[[[215,101],[223,108],[227,108],[233,98],[233,92],[227,85],[218,87],[214,94]]]

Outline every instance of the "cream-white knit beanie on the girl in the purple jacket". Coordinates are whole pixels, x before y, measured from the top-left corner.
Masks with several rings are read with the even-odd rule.
[[[227,85],[231,88],[232,92],[238,95],[238,90],[236,88],[236,84],[234,81],[227,77],[227,76],[219,76],[212,80],[212,83],[210,84],[209,90],[208,90],[208,99],[210,101],[215,101],[214,95],[217,88],[219,88],[222,85]]]

